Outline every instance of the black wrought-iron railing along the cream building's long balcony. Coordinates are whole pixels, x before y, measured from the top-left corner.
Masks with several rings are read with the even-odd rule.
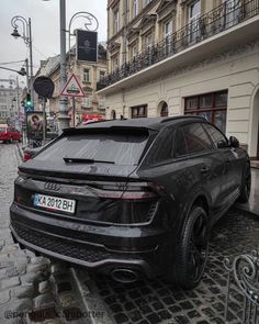
[[[259,0],[227,0],[100,79],[101,90],[259,14]]]

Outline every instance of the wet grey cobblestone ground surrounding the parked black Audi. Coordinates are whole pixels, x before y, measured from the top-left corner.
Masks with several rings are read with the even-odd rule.
[[[9,231],[9,206],[20,161],[15,144],[0,143],[0,323],[221,324],[230,259],[259,245],[259,222],[229,211],[213,228],[202,283],[182,291],[160,279],[116,283],[21,250]],[[38,310],[45,310],[45,321]],[[26,312],[33,313],[27,314]],[[232,286],[228,323],[241,323],[243,295]],[[41,321],[40,321],[41,320]]]

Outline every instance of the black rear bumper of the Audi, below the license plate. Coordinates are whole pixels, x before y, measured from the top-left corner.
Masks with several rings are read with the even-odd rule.
[[[105,273],[126,268],[150,278],[162,272],[161,260],[167,259],[164,250],[167,253],[168,249],[162,248],[165,235],[160,232],[143,230],[140,233],[138,227],[135,231],[138,232],[136,237],[133,237],[134,235],[130,237],[130,228],[124,227],[120,228],[120,234],[114,237],[112,226],[101,230],[97,226],[93,235],[93,227],[88,228],[69,221],[60,222],[46,217],[22,209],[15,203],[12,204],[10,214],[10,228],[15,239],[29,249],[50,258],[85,266],[88,269],[98,269]],[[70,231],[67,230],[69,226]]]

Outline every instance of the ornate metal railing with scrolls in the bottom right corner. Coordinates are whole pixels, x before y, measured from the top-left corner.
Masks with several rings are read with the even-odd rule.
[[[232,288],[235,286],[244,297],[240,323],[259,324],[259,249],[254,250],[251,255],[237,256],[233,261],[225,258],[224,265],[228,270],[225,323],[229,323],[228,312],[233,299]]]

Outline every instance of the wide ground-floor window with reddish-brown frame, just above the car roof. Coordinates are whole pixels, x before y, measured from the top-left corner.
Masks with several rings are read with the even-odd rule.
[[[201,115],[216,125],[223,133],[226,131],[226,111],[227,91],[185,98],[185,114]]]

